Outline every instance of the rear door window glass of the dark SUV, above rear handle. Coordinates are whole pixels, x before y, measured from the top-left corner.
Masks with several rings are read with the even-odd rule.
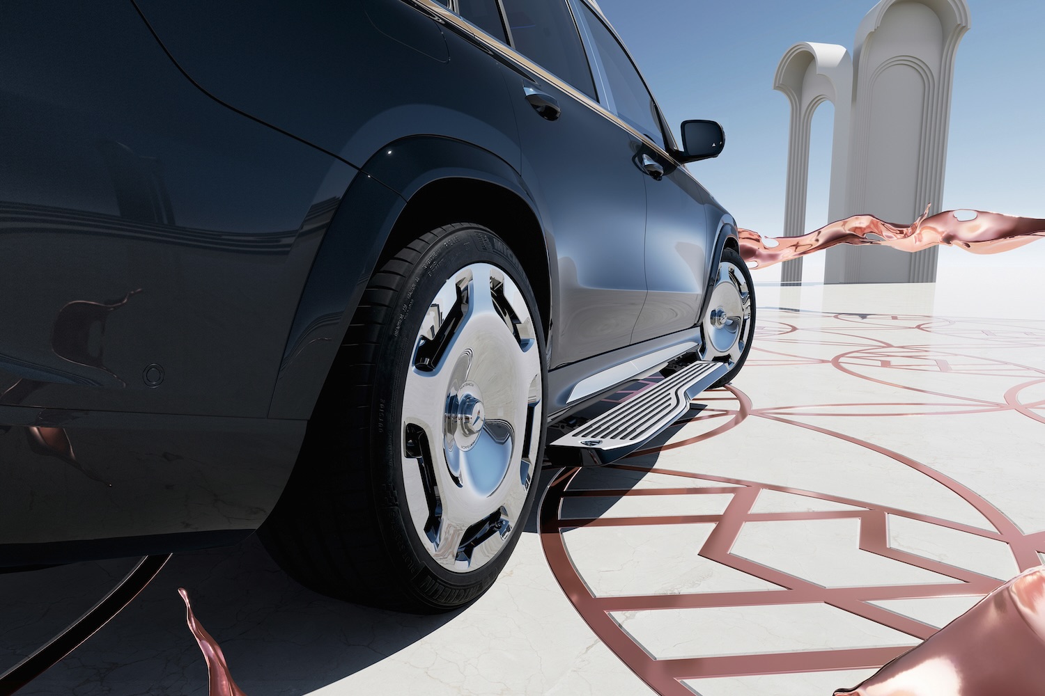
[[[565,0],[503,0],[522,55],[595,99],[595,80]]]

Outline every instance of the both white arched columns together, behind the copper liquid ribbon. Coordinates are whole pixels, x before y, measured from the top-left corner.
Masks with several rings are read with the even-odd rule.
[[[869,213],[906,224],[927,203],[939,210],[954,58],[969,27],[966,0],[881,0],[860,22],[852,62],[837,45],[802,43],[784,54],[773,88],[791,102],[785,235],[802,234],[809,127],[827,99],[835,104],[832,220]],[[932,282],[936,256],[839,245],[828,250],[825,281]]]

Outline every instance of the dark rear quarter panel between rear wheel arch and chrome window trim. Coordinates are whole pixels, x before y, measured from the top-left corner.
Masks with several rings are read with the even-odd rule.
[[[461,55],[459,37],[407,3],[137,4],[208,94],[345,162],[433,134],[517,166],[501,66]]]

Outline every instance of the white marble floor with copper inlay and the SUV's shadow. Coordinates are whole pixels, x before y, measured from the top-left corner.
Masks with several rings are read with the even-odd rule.
[[[252,539],[176,556],[20,693],[205,694],[178,586],[251,696],[855,686],[1041,562],[1045,280],[757,292],[735,384],[636,456],[554,476],[541,519],[467,609],[327,600]],[[0,575],[0,670],[129,567]]]

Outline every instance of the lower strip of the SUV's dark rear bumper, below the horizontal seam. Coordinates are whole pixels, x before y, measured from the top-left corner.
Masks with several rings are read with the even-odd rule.
[[[2,565],[25,565],[27,547],[48,543],[67,543],[52,551],[68,554],[86,550],[73,542],[108,550],[114,538],[130,546],[148,535],[246,533],[278,500],[305,425],[17,406],[0,406],[0,423]],[[64,433],[71,452],[42,441],[40,429]]]

